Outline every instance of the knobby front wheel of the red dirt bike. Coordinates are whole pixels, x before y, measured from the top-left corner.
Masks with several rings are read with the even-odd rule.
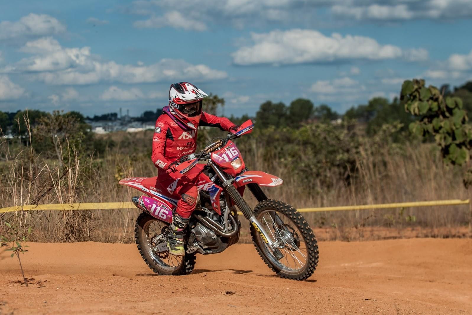
[[[277,259],[251,225],[251,236],[262,260],[280,277],[309,278],[318,264],[318,244],[305,218],[294,207],[279,200],[264,200],[254,208],[257,220],[283,257]]]

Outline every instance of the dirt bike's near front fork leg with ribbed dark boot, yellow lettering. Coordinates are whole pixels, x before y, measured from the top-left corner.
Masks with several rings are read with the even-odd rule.
[[[226,191],[228,192],[228,195],[233,199],[235,204],[238,206],[239,210],[244,214],[244,217],[251,222],[252,226],[256,231],[259,232],[259,235],[261,235],[262,240],[266,243],[267,247],[270,248],[274,256],[280,260],[282,259],[283,255],[280,252],[280,250],[277,248],[270,239],[269,234],[267,231],[262,227],[261,222],[257,220],[255,213],[251,207],[244,201],[243,197],[241,194],[237,191],[236,187],[233,186],[233,181],[234,179],[227,179],[225,174],[219,169],[217,165],[215,165],[211,160],[208,161],[208,164],[211,166],[211,168],[216,172],[218,177],[221,179],[223,182],[223,187],[225,187]]]

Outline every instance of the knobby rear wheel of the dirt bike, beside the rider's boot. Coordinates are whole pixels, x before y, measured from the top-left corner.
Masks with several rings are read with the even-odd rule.
[[[148,213],[141,213],[135,225],[135,240],[141,257],[151,270],[160,275],[189,274],[195,267],[195,254],[171,255],[167,247],[169,223]]]

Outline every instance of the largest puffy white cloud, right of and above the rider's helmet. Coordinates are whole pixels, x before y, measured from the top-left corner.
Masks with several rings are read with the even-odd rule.
[[[336,60],[399,59],[406,55],[423,55],[423,50],[402,50],[381,45],[370,37],[334,33],[325,36],[315,30],[275,30],[267,34],[251,34],[253,46],[245,46],[232,54],[237,65],[300,64]],[[414,52],[412,52],[414,51]]]

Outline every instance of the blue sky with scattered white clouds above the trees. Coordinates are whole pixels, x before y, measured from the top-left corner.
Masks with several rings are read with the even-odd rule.
[[[191,82],[225,115],[342,113],[405,79],[472,79],[472,0],[0,0],[0,111],[154,111]]]

